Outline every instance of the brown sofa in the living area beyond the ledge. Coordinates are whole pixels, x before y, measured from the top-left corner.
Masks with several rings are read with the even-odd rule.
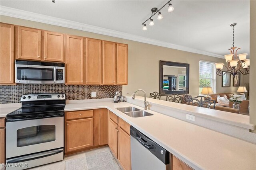
[[[234,104],[233,102],[228,101],[225,104],[218,103],[218,101],[217,101],[218,96],[226,97],[226,98],[229,99],[231,95],[234,95],[234,94],[232,94],[232,93],[217,93],[217,94],[210,94],[209,96],[211,97],[212,100],[216,101],[216,105],[215,105],[216,110],[249,115],[249,111],[248,111],[249,100],[243,100],[243,102],[240,104],[240,111],[238,111],[238,109],[233,109],[232,108],[232,106]]]

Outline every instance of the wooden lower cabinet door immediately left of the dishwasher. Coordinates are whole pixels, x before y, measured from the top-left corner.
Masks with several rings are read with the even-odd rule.
[[[131,143],[130,135],[119,127],[118,135],[118,159],[126,170],[131,169]]]

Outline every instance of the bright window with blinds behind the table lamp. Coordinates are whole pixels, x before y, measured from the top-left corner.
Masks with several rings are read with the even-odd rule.
[[[211,87],[216,93],[216,67],[214,63],[199,61],[199,94],[203,87]]]

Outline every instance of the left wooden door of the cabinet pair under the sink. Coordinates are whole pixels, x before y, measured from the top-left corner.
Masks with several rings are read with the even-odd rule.
[[[108,146],[112,150],[114,156],[118,158],[118,125],[111,119],[108,119],[108,121]]]

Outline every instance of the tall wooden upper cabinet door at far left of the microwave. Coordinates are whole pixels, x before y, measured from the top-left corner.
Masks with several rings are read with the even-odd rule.
[[[14,25],[0,24],[0,84],[14,84]]]

